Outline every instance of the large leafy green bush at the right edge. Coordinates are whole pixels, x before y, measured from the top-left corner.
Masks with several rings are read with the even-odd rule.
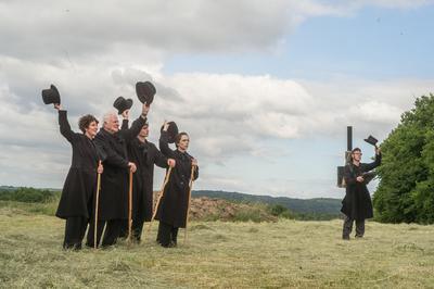
[[[434,95],[403,114],[382,143],[381,178],[374,193],[376,221],[434,223]]]

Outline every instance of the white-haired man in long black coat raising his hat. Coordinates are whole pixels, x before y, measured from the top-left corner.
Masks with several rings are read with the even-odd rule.
[[[122,230],[123,219],[128,218],[128,174],[135,173],[136,164],[128,161],[127,143],[133,140],[146,122],[149,106],[143,103],[142,114],[132,123],[131,128],[119,130],[119,121],[115,112],[105,114],[104,124],[95,137],[97,147],[105,154],[104,173],[101,176],[101,192],[98,214],[97,243],[106,223],[101,246],[116,243]],[[93,246],[94,225],[90,224],[87,246]]]

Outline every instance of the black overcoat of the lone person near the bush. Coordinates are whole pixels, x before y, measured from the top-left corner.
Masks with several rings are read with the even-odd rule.
[[[372,163],[360,163],[359,166],[348,164],[344,168],[346,183],[345,198],[342,200],[341,212],[352,219],[362,221],[373,217],[372,201],[367,185],[356,180],[358,176],[381,164],[381,154],[375,154]]]

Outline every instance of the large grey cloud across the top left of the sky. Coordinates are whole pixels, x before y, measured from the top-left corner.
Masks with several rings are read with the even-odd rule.
[[[23,7],[26,16],[17,17]],[[163,51],[255,50],[276,45],[288,17],[284,1],[20,1],[0,11],[1,53],[44,61],[66,52],[104,54],[118,43]]]

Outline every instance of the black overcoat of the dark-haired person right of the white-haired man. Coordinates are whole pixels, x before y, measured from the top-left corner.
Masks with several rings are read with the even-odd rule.
[[[128,121],[123,122],[123,129],[128,128]],[[139,138],[128,143],[128,159],[137,165],[132,186],[132,218],[149,222],[153,209],[154,164],[167,167],[167,158],[154,143]]]

